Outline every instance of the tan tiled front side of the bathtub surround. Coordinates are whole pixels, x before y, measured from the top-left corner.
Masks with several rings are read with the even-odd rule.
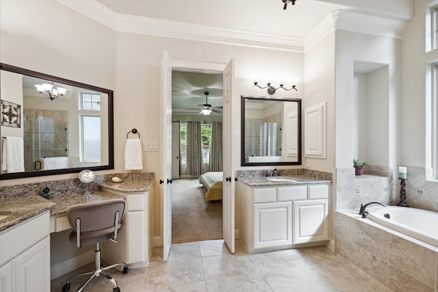
[[[334,217],[335,252],[392,291],[438,289],[438,248],[389,233],[353,212],[336,211]]]

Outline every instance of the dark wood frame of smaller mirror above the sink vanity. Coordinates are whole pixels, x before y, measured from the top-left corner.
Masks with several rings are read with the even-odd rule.
[[[267,162],[248,162],[245,158],[245,101],[282,101],[294,102],[297,105],[298,120],[297,120],[297,144],[298,152],[296,161],[267,161]],[[252,97],[241,96],[240,105],[240,126],[241,126],[241,141],[240,141],[240,165],[241,166],[262,166],[262,165],[301,165],[302,145],[301,145],[301,99],[300,98],[268,98],[268,97]]]

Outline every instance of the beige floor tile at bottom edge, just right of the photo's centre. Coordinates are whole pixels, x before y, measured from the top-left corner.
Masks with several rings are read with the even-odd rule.
[[[247,274],[239,276],[229,276],[206,280],[207,290],[210,292],[233,292],[233,291],[257,291],[272,292],[268,282],[261,274]]]

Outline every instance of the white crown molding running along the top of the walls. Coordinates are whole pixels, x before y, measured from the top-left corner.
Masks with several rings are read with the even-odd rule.
[[[335,29],[401,38],[402,29],[405,25],[403,21],[338,10],[324,18],[305,38],[292,38],[274,34],[260,34],[250,31],[194,25],[179,21],[118,14],[96,0],[57,1],[115,31],[297,53],[304,53]]]

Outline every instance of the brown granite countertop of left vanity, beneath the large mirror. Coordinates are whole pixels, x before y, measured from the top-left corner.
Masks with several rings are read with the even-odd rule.
[[[123,183],[112,183],[104,181],[99,186],[115,189],[121,192],[149,191],[153,185],[153,179],[144,181],[124,181]],[[54,192],[49,200],[37,194],[22,194],[17,196],[0,196],[0,231],[10,228],[20,222],[34,217],[44,211],[50,210],[50,215],[65,213],[68,207],[83,202],[99,202],[115,198],[126,198],[123,194],[114,194],[110,191],[103,191],[94,188],[92,194],[83,194],[73,189],[70,194],[67,192]],[[3,217],[6,215],[7,217]]]

